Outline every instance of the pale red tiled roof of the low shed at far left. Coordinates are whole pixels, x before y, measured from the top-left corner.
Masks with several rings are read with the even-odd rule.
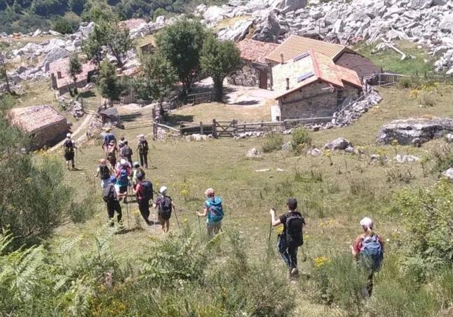
[[[66,121],[64,116],[49,105],[33,106],[27,108],[15,108],[8,112],[10,122],[20,127],[25,132],[36,132],[49,127],[60,121]]]

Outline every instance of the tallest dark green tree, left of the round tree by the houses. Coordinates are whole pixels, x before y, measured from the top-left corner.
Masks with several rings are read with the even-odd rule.
[[[183,95],[190,90],[193,78],[200,71],[200,51],[205,37],[206,31],[200,22],[186,19],[166,26],[156,36],[159,52],[170,61],[184,85]]]

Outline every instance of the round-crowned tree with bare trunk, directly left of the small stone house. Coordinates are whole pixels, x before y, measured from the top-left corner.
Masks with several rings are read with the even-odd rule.
[[[241,68],[241,54],[235,43],[209,35],[200,56],[201,68],[214,80],[217,101],[222,102],[223,79]]]

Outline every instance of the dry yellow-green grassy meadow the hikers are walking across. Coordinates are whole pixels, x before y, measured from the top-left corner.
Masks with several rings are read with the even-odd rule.
[[[174,247],[172,241],[177,239],[175,238],[177,236],[183,241],[195,239],[202,246],[208,249],[211,246],[216,250],[218,258],[217,260],[211,259],[214,261],[212,263],[226,265],[225,270],[222,270],[221,273],[212,272],[214,268],[211,266],[206,268],[206,278],[214,276],[225,283],[225,288],[221,288],[225,292],[222,297],[225,302],[240,306],[241,300],[236,298],[233,293],[249,292],[248,294],[253,293],[253,296],[262,295],[258,302],[262,301],[262,304],[266,305],[269,298],[264,294],[274,288],[281,291],[278,294],[279,297],[289,295],[293,299],[289,303],[281,301],[282,307],[276,310],[261,307],[258,309],[259,314],[256,309],[244,308],[242,316],[437,316],[435,314],[444,307],[445,303],[436,306],[436,300],[433,299],[436,298],[436,295],[433,294],[433,287],[436,284],[417,286],[417,292],[427,294],[423,298],[419,298],[419,304],[425,305],[422,308],[417,306],[418,300],[414,300],[415,307],[401,306],[403,305],[401,303],[405,302],[409,296],[422,296],[420,295],[422,293],[414,295],[410,291],[405,291],[406,295],[401,295],[401,299],[393,298],[392,303],[389,303],[391,299],[385,297],[392,290],[396,293],[403,292],[401,284],[389,285],[390,281],[396,283],[396,276],[401,273],[398,266],[401,264],[399,255],[402,241],[407,234],[407,227],[401,214],[389,212],[394,208],[394,194],[403,188],[429,188],[436,183],[439,176],[439,172],[436,170],[438,161],[435,160],[432,153],[445,146],[445,141],[431,141],[424,144],[422,148],[376,146],[376,133],[380,125],[396,118],[453,116],[450,87],[436,86],[436,104],[433,107],[420,107],[415,98],[410,98],[411,91],[413,91],[412,88],[380,88],[380,93],[384,97],[383,102],[370,109],[353,125],[311,133],[311,146],[313,147],[322,148],[327,141],[345,137],[354,146],[364,150],[362,155],[339,151],[330,156],[311,157],[304,153],[296,156],[290,151],[277,150],[250,159],[245,156],[247,150],[253,147],[261,150],[266,141],[265,138],[209,139],[200,142],[187,142],[181,139],[151,141],[151,127],[136,130],[114,130],[117,137],[126,137],[129,144],[135,144],[138,134],[147,134],[150,141],[149,165],[151,166],[147,170],[147,178],[154,183],[156,189],[161,185],[168,187],[168,194],[172,196],[177,205],[177,217],[181,229],[178,229],[174,215],[171,218],[171,233],[168,236],[163,235],[158,226],[156,228],[146,226],[135,204],[130,204],[128,221],[126,206],[122,204],[124,223],[128,230],[123,234],[109,237],[111,254],[118,258],[121,265],[130,266],[130,270],[143,270],[140,269],[139,259],[142,256],[152,258],[156,252],[156,245],[160,246],[161,250],[168,250],[170,246]],[[219,116],[222,116],[225,106],[216,104],[210,106],[212,113],[215,113],[218,107]],[[190,108],[184,109],[184,115],[191,115],[190,110]],[[194,111],[195,121],[204,120],[204,118],[198,118],[196,108]],[[289,140],[290,136],[285,136],[283,141]],[[135,146],[133,150],[135,150]],[[423,164],[419,162],[396,164],[392,160],[382,162],[371,162],[370,160],[372,154],[392,158],[396,153],[417,155],[423,158]],[[62,154],[59,153],[59,155],[63,159]],[[65,181],[74,187],[80,199],[86,197],[89,192],[96,192],[98,194],[98,199],[96,199],[98,211],[94,217],[83,224],[61,226],[49,242],[51,248],[57,248],[62,240],[76,241],[80,250],[87,251],[93,248],[97,237],[109,231],[106,226],[107,215],[101,199],[101,190],[98,188],[98,180],[94,180],[92,176],[98,159],[102,155],[99,140],[89,141],[78,150],[76,160],[80,171],[66,172]],[[136,160],[136,157],[134,154],[133,159]],[[258,171],[262,169],[269,169],[269,171]],[[213,187],[216,194],[222,197],[225,209],[223,233],[214,239],[214,242],[209,243],[206,242],[203,220],[200,225],[195,216],[195,211],[201,208],[203,193],[207,187]],[[285,281],[285,266],[274,249],[279,229],[272,229],[270,244],[268,241],[269,208],[275,207],[279,214],[284,212],[285,199],[289,196],[295,196],[298,199],[299,211],[306,219],[305,243],[299,251],[299,270],[302,276],[294,285]],[[153,212],[151,212],[151,219],[152,214]],[[376,296],[369,301],[351,300],[354,299],[354,293],[348,293],[352,287],[350,284],[355,283],[354,285],[357,286],[360,283],[357,281],[357,276],[351,275],[351,272],[355,271],[350,268],[350,263],[352,263],[350,245],[356,235],[360,233],[358,223],[364,216],[374,219],[376,231],[385,239],[383,272],[376,278]],[[204,249],[200,245],[198,247]],[[200,249],[198,249],[199,252]],[[197,254],[196,249],[194,252]],[[76,257],[76,255],[73,256]],[[242,264],[246,265],[244,267],[245,276],[237,272],[236,284],[233,282],[233,277],[230,276],[234,275],[230,270],[240,271],[241,268],[236,262],[234,265],[230,263],[234,262],[235,258],[246,258],[246,263],[248,263]],[[187,257],[181,258],[181,261],[192,263],[193,257],[187,255]],[[325,278],[330,273],[321,271],[320,267],[329,261],[335,261],[338,269],[332,273],[333,277],[330,276],[329,283],[322,284],[327,281]],[[221,267],[223,268],[223,266]],[[202,274],[195,267],[191,270],[194,275]],[[320,272],[323,272],[324,275]],[[131,284],[127,284],[127,281],[124,283],[118,288],[129,289]],[[181,297],[174,303],[165,302],[165,305],[168,306],[161,307],[159,314],[161,316],[232,316],[231,313],[228,313],[228,304],[225,302],[219,304],[216,302],[217,297],[214,302],[200,299],[209,290],[209,287],[203,283],[205,282],[200,282],[201,286],[197,287],[193,284],[187,286],[193,294],[196,294],[193,297],[188,295],[191,291],[184,288],[186,284],[175,286],[174,289],[181,291]],[[319,296],[318,293],[324,287],[323,285],[330,285],[330,288],[325,286],[330,291],[332,291],[332,287],[336,287],[332,291],[334,292],[333,295],[331,294],[332,298],[328,297],[331,300]],[[262,294],[257,291],[258,289],[262,291]],[[124,295],[123,291],[116,290],[114,296],[121,294]],[[124,298],[127,297],[124,296]],[[245,297],[246,295],[244,295]],[[184,307],[184,302],[181,302],[182,298],[185,298],[188,307],[194,307],[194,305],[198,307],[192,311],[193,314],[189,314],[189,311],[186,313],[172,310]],[[197,301],[198,304],[194,304]],[[121,298],[118,298],[118,302],[121,302]],[[144,305],[144,302],[133,302],[130,298],[129,300],[124,299],[123,306],[121,304],[118,304],[118,307],[113,305],[114,308],[110,314],[107,314],[109,310],[103,311],[101,314],[103,304],[105,304],[103,300],[95,300],[94,307],[97,308],[91,308],[90,314],[93,316],[142,316],[143,314],[134,309],[137,305]],[[174,306],[172,306],[173,304]],[[274,304],[276,303],[274,302]],[[380,311],[377,308],[386,305],[391,307],[389,309],[398,307],[401,311],[389,314],[389,310]],[[223,307],[225,311],[222,312],[219,307]],[[357,307],[361,308],[357,310]],[[255,313],[249,315],[250,311],[255,311]],[[415,315],[413,311],[419,311],[420,314]],[[431,314],[431,311],[435,313]]]

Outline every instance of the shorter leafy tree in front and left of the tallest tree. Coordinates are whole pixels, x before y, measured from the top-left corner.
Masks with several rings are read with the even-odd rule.
[[[162,54],[144,56],[142,74],[135,79],[134,87],[140,98],[156,100],[163,111],[163,100],[171,93],[177,82],[176,70]]]

